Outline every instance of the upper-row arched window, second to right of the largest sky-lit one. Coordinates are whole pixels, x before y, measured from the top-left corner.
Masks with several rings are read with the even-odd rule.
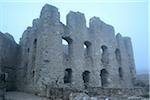
[[[101,46],[101,53],[102,53],[102,58],[101,61],[103,64],[109,64],[109,53],[108,53],[108,48],[105,45]]]

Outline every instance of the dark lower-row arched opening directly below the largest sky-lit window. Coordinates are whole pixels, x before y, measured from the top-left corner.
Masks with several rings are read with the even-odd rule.
[[[65,70],[64,83],[72,82],[72,69],[68,68]]]

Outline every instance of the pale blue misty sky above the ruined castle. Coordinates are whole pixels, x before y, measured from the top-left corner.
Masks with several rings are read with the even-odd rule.
[[[115,33],[132,38],[137,73],[148,72],[148,3],[146,0],[25,0],[20,2],[0,1],[0,31],[12,34],[16,40],[23,31],[32,26],[32,20],[39,17],[45,3],[59,8],[61,21],[66,23],[67,13],[79,11],[88,20],[97,16],[113,25]],[[51,2],[50,2],[51,1]]]

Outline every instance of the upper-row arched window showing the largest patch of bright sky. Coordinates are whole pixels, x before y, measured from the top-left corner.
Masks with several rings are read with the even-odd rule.
[[[72,53],[72,39],[69,37],[62,38],[63,53],[69,56]]]

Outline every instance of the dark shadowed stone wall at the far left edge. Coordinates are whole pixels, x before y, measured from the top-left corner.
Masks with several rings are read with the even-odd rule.
[[[8,33],[0,32],[0,72],[2,82],[5,81],[6,90],[15,89],[16,68],[19,63],[19,45]]]

